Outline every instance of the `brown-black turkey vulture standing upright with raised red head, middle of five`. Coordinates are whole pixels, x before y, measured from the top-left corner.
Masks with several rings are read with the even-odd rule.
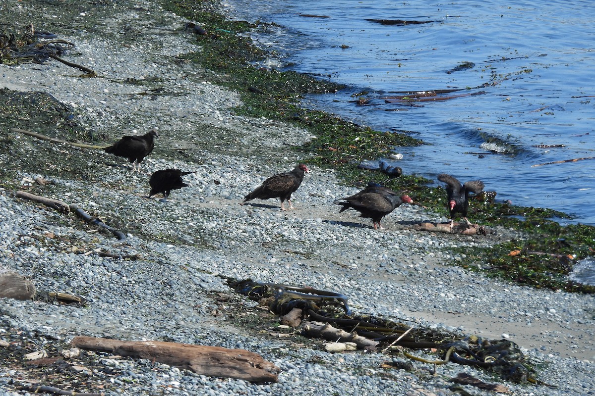
[[[308,167],[304,164],[299,164],[291,172],[271,176],[267,180],[264,180],[261,186],[246,195],[241,205],[254,198],[279,198],[281,201],[281,210],[285,210],[283,202],[286,200],[289,202],[289,208],[295,209],[292,205],[292,193],[302,184],[304,172],[309,172]]]

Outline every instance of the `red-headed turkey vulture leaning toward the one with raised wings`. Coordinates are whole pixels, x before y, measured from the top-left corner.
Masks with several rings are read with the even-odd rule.
[[[380,220],[403,202],[412,204],[413,199],[409,195],[399,197],[399,194],[392,191],[392,189],[377,183],[368,183],[368,186],[357,194],[337,199],[333,203],[343,205],[339,213],[349,208],[355,209],[361,213],[359,217],[372,219],[374,229],[377,229],[377,225],[382,229],[383,226],[381,226]]]

